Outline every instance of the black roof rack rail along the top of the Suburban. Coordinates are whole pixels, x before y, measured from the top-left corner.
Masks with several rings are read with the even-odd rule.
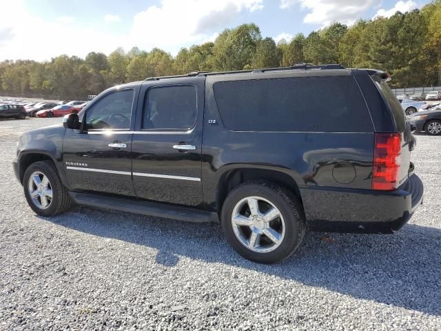
[[[188,74],[179,74],[176,76],[163,76],[163,77],[150,77],[145,79],[145,81],[158,81],[159,79],[169,79],[169,78],[183,78],[183,77],[207,77],[214,76],[216,74],[257,74],[261,72],[268,71],[281,71],[281,70],[326,70],[326,69],[345,69],[345,67],[340,64],[324,64],[322,66],[314,66],[309,63],[295,63],[289,67],[278,67],[278,68],[263,68],[263,69],[250,69],[250,70],[232,70],[232,71],[221,71],[221,72],[209,72],[209,71],[192,71]]]

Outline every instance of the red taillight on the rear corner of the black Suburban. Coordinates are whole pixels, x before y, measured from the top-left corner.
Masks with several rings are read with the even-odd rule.
[[[373,150],[373,190],[394,190],[400,175],[401,134],[376,133]]]

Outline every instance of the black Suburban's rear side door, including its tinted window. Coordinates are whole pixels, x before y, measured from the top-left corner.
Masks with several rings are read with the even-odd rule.
[[[197,206],[201,185],[202,117],[205,78],[171,84],[145,82],[133,135],[136,196],[151,201]],[[141,101],[142,98],[142,101]]]

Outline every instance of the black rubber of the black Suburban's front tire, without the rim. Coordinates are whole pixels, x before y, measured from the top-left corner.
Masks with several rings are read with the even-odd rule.
[[[49,207],[47,209],[41,209],[37,207],[37,205],[35,205],[35,203],[32,201],[32,197],[30,196],[28,183],[30,176],[34,172],[41,172],[42,174],[47,176],[50,181],[50,186],[52,189],[52,201],[50,201]],[[54,216],[57,214],[61,214],[69,210],[72,205],[72,199],[70,199],[69,197],[68,190],[66,190],[63,183],[61,183],[57,170],[54,168],[53,163],[50,161],[38,161],[29,165],[23,176],[23,190],[25,192],[25,197],[28,201],[28,204],[30,205],[30,208],[32,208],[32,210],[34,210],[36,214],[39,214],[41,216]]]

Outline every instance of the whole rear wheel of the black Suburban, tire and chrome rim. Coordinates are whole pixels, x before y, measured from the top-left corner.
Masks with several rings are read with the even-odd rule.
[[[268,182],[243,183],[229,193],[221,223],[238,254],[258,263],[276,263],[294,253],[305,235],[305,218],[291,195]]]

